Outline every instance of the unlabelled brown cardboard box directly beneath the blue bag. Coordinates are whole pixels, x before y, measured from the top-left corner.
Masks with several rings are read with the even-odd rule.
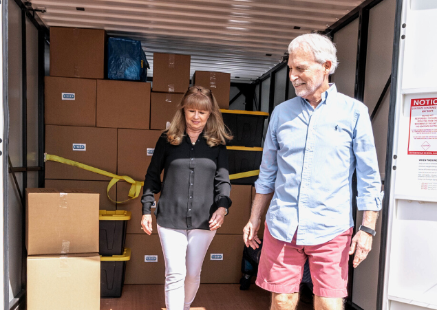
[[[149,129],[150,83],[97,81],[96,125]]]

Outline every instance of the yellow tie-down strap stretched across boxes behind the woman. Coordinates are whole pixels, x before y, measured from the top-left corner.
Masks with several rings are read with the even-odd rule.
[[[44,153],[44,162],[46,162],[47,160],[50,160],[52,162],[60,162],[61,164],[67,164],[70,166],[74,166],[77,168],[88,170],[88,171],[91,171],[92,173],[98,173],[99,175],[105,175],[105,177],[111,177],[112,179],[111,179],[111,181],[109,181],[106,192],[107,192],[107,196],[108,196],[109,200],[111,200],[115,203],[124,203],[126,201],[131,200],[131,199],[136,199],[136,197],[138,197],[140,195],[142,186],[144,186],[143,181],[135,181],[134,179],[132,179],[131,177],[128,177],[127,175],[114,175],[114,173],[109,173],[109,172],[102,170],[102,169],[99,169],[99,168],[94,168],[92,166],[81,164],[80,162],[74,162],[71,159],[66,159],[66,158],[63,158],[61,156],[56,156],[56,155]],[[247,171],[246,173],[235,173],[233,175],[229,175],[229,179],[231,179],[231,180],[242,179],[244,177],[253,177],[255,175],[259,175],[259,170]],[[118,181],[120,181],[120,179],[127,181],[127,183],[131,184],[131,189],[129,190],[129,194],[128,194],[129,199],[127,199],[125,201],[114,201],[111,199],[111,197],[109,197],[109,190],[111,189],[112,186],[114,186],[114,184],[116,184]]]

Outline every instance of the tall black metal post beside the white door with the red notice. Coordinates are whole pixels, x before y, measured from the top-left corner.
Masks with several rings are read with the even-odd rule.
[[[399,63],[399,42],[401,37],[402,22],[402,0],[396,0],[396,15],[394,19],[394,41],[392,58],[392,86],[390,87],[390,107],[387,131],[387,153],[385,155],[385,177],[383,209],[381,210],[381,244],[379,246],[379,274],[378,291],[376,294],[376,310],[383,309],[384,302],[384,280],[385,280],[385,258],[387,257],[387,228],[390,216],[390,187],[392,186],[392,161],[394,126],[396,118],[396,93],[398,91],[398,63]]]

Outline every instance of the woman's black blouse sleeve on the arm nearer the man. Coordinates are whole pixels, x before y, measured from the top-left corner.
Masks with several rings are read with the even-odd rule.
[[[217,157],[217,170],[214,177],[214,201],[217,208],[229,208],[232,204],[229,195],[231,194],[231,182],[229,181],[229,164],[226,146],[221,145]]]

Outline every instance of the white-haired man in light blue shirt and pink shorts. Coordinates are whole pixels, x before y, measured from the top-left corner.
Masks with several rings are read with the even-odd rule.
[[[244,243],[258,247],[261,215],[270,204],[256,282],[272,291],[270,310],[295,309],[307,258],[315,309],[343,309],[348,254],[355,252],[354,267],[365,259],[381,210],[372,124],[363,103],[329,84],[338,62],[326,36],[298,36],[288,53],[297,97],[271,115]],[[355,169],[364,214],[351,245]]]

